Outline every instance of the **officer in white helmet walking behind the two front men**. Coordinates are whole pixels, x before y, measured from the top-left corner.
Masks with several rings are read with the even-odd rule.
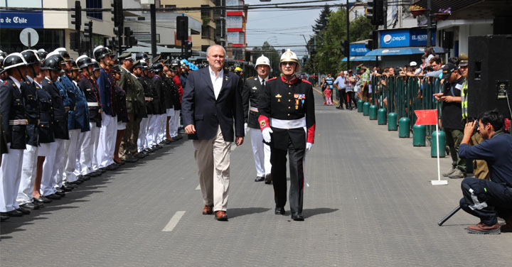
[[[242,91],[242,104],[244,107],[245,133],[250,131],[252,153],[254,154],[256,166],[255,182],[265,180],[267,185],[272,183],[272,175],[270,174],[270,146],[263,143],[263,136],[258,124],[260,112],[257,107],[260,103],[260,96],[265,88],[265,83],[270,78],[270,60],[261,55],[256,60],[255,66],[257,76],[249,77],[245,80]]]

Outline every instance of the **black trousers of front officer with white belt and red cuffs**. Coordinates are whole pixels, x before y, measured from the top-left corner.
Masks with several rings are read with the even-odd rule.
[[[272,183],[274,186],[274,200],[276,207],[284,207],[287,200],[287,153],[289,158],[290,210],[293,213],[302,213],[302,200],[304,197],[304,152],[306,148],[295,148],[292,140],[288,139],[288,150],[270,148],[270,163],[272,164]]]

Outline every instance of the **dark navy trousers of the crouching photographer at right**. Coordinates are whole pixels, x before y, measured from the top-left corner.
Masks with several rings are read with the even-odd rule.
[[[461,187],[464,195],[461,208],[479,217],[484,224],[496,224],[498,216],[504,219],[512,216],[512,188],[474,177],[464,178]]]

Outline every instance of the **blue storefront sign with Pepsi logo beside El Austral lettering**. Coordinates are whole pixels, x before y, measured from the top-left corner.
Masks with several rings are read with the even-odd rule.
[[[435,43],[435,31],[432,31],[432,43]],[[380,32],[381,48],[399,48],[427,45],[426,29],[400,29]]]

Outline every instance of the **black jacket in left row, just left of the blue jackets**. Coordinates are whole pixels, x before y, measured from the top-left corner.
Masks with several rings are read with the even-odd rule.
[[[69,139],[68,114],[65,109],[64,97],[54,82],[43,80],[43,89],[50,94],[53,103],[53,134],[58,139]]]

